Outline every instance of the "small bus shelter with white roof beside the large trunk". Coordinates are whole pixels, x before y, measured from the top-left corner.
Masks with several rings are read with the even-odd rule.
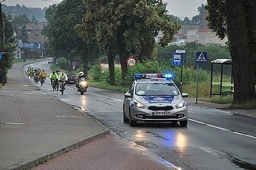
[[[211,86],[210,86],[210,98],[212,98],[212,95],[222,95],[223,94],[223,88],[225,89],[225,92],[234,92],[234,83],[233,83],[233,73],[232,73],[232,60],[231,59],[216,59],[211,62],[212,68],[211,68]],[[213,72],[214,72],[214,66],[220,66],[220,81],[213,81]],[[223,68],[224,66],[231,66],[231,77],[229,82],[223,82]],[[213,92],[213,88],[215,86],[218,86],[219,92]]]

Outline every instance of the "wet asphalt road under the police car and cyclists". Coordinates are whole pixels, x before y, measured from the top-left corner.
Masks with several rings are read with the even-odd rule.
[[[47,62],[35,64],[50,72]],[[40,84],[36,84],[40,86]],[[256,120],[228,111],[189,106],[187,128],[178,123],[122,122],[124,94],[89,87],[84,95],[67,85],[63,95],[52,91],[50,80],[40,88],[79,107],[128,141],[134,141],[181,169],[256,169]]]

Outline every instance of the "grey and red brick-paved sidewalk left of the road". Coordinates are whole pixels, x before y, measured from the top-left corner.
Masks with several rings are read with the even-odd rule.
[[[0,89],[0,169],[174,169],[32,86],[24,78],[23,67],[29,63],[14,64]],[[57,161],[55,166],[51,161]]]

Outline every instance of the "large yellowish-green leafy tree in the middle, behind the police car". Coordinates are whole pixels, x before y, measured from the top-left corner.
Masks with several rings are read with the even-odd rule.
[[[135,56],[138,60],[153,58],[158,31],[164,32],[159,44],[166,46],[180,28],[177,23],[169,22],[163,1],[85,0],[84,3],[87,13],[83,23],[77,25],[79,35],[83,39],[94,35],[105,50],[118,54],[122,78],[127,73],[126,60],[129,56]]]

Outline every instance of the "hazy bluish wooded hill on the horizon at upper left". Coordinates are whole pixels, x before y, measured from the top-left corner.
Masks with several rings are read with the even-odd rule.
[[[46,22],[46,18],[44,17],[45,12],[47,7],[45,7],[44,9],[41,9],[39,7],[26,7],[24,5],[20,6],[19,4],[17,4],[16,6],[7,6],[2,4],[2,9],[4,13],[9,13],[13,10],[11,15],[12,17],[14,17],[15,15],[19,16],[19,15],[24,15],[26,14],[28,16],[29,19],[32,19],[32,17],[36,17],[36,20],[38,22]]]

